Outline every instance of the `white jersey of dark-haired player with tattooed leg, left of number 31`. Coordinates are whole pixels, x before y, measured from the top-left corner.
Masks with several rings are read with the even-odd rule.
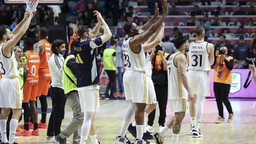
[[[187,99],[187,90],[180,80],[177,66],[175,66],[174,60],[176,55],[183,55],[180,52],[173,53],[168,62],[168,99]]]

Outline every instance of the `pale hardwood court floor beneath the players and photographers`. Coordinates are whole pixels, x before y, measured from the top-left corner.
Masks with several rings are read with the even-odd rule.
[[[180,132],[180,144],[201,144],[201,143],[256,143],[256,99],[232,99],[231,104],[234,111],[233,123],[215,124],[214,121],[218,117],[216,102],[214,99],[207,99],[204,105],[204,114],[201,122],[201,131],[205,135],[204,138],[192,138],[189,134],[190,117],[187,113],[184,118],[182,129]],[[50,102],[48,106],[51,107]],[[119,134],[128,103],[125,100],[101,100],[101,109],[97,114],[97,135],[102,144],[113,144],[115,136]],[[225,109],[225,107],[224,107]],[[158,116],[157,110],[157,116]],[[173,116],[170,112],[168,103],[166,121]],[[225,118],[227,120],[227,111],[225,110]],[[41,117],[41,114],[39,114]],[[47,115],[47,120],[49,114]],[[40,120],[40,118],[38,118]],[[72,111],[66,105],[65,119],[62,123],[62,129],[72,120]],[[155,118],[154,130],[157,131],[158,117]],[[21,122],[23,124],[23,121]],[[47,129],[40,129],[40,136],[30,136],[16,138],[17,143],[46,143]],[[172,131],[169,131],[165,137],[165,143],[170,143]],[[134,138],[127,134],[130,140]],[[90,138],[89,138],[90,139]],[[69,138],[67,141],[72,142]],[[150,141],[154,142],[154,141]],[[88,143],[91,143],[89,140]]]

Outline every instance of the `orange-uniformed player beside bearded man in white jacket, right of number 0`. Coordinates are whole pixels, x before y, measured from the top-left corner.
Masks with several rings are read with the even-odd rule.
[[[40,99],[42,113],[41,121],[38,123],[38,128],[47,128],[47,94],[51,82],[48,62],[52,56],[52,45],[47,41],[47,28],[39,28],[37,37],[40,39],[40,41],[34,45],[34,51],[37,52],[40,57],[40,64],[38,68],[38,85],[40,85],[40,87],[37,88],[37,97]]]

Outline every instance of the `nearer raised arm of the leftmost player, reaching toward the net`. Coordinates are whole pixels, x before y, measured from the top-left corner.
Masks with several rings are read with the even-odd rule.
[[[20,38],[22,38],[23,35],[26,33],[27,29],[29,28],[30,21],[31,21],[33,16],[34,16],[34,12],[29,12],[29,18],[23,24],[22,28],[20,28],[18,33],[14,37],[12,37],[12,39],[10,39],[9,41],[7,41],[5,43],[5,45],[2,48],[2,52],[3,52],[3,55],[5,55],[5,57],[10,57],[11,56],[12,47],[15,46],[17,44],[17,42],[19,42]]]

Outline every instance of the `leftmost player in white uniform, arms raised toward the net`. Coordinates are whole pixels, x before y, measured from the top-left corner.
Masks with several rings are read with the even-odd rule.
[[[19,71],[12,47],[26,33],[34,14],[35,12],[26,12],[24,19],[12,33],[10,33],[8,27],[0,26],[0,69],[2,71],[2,79],[0,81],[0,107],[2,109],[0,115],[0,132],[2,143],[15,143],[15,132],[21,115],[20,109],[22,108]],[[13,111],[13,116],[10,120],[8,142],[6,137],[6,118],[9,115],[10,109]]]

